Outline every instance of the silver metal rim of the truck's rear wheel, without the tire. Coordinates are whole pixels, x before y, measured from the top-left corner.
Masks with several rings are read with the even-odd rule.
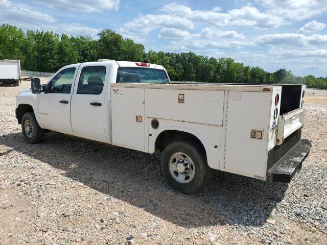
[[[174,153],[169,160],[171,176],[179,183],[189,183],[195,175],[195,166],[192,159],[182,152]]]

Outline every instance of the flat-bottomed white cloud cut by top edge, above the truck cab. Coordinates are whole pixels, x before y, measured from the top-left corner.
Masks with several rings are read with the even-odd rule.
[[[98,12],[118,11],[120,0],[34,0],[38,4],[63,11]]]

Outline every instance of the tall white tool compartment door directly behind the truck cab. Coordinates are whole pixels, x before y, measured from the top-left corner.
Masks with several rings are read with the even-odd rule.
[[[112,144],[145,150],[145,89],[111,87]]]

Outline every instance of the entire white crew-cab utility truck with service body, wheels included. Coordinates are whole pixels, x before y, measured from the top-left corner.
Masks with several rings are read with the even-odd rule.
[[[290,182],[311,149],[300,139],[305,85],[172,84],[161,65],[99,60],[31,87],[16,97],[27,142],[55,131],[160,151],[162,175],[183,193],[200,190],[213,169]]]

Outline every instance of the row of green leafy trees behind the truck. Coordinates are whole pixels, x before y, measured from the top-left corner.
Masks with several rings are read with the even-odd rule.
[[[327,88],[327,78],[297,77],[285,69],[267,72],[258,66],[235,62],[232,58],[208,58],[192,52],[145,52],[143,44],[123,38],[110,29],[102,30],[98,36],[94,39],[90,36],[69,37],[52,31],[24,32],[15,26],[2,24],[0,59],[17,59],[24,70],[44,72],[55,72],[68,64],[98,59],[139,61],[164,65],[172,81],[307,84],[312,88]]]

